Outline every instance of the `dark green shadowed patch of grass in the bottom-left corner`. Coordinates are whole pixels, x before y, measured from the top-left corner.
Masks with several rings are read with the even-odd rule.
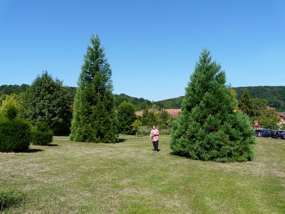
[[[21,192],[0,192],[0,211],[7,211],[9,208],[18,207],[23,204],[24,195]]]

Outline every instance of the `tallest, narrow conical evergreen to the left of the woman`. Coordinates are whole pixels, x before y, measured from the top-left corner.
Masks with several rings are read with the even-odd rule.
[[[84,55],[74,98],[70,140],[93,143],[118,141],[118,120],[112,71],[105,58],[104,47],[97,35],[92,35]]]

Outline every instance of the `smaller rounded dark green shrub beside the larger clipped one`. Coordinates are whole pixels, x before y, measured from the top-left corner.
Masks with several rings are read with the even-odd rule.
[[[46,122],[37,122],[36,126],[31,130],[32,144],[45,146],[53,140],[53,131],[50,130]]]

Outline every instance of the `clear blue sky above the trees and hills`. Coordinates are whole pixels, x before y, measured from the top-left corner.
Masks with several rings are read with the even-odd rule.
[[[77,86],[92,33],[115,94],[184,95],[205,44],[233,87],[284,85],[284,0],[1,0],[0,85],[32,84],[47,70]]]

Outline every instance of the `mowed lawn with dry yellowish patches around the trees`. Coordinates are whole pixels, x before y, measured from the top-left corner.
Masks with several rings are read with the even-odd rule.
[[[0,213],[285,213],[285,140],[257,138],[245,163],[171,154],[169,136],[0,153]],[[2,207],[2,208],[1,208]]]

